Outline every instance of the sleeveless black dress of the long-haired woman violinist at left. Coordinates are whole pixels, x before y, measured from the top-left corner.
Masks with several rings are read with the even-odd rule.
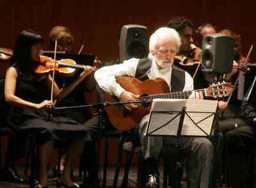
[[[49,99],[49,90],[45,80],[35,81],[18,79],[15,95],[33,103],[40,103]],[[34,109],[31,107],[11,106],[7,118],[10,127],[17,132],[32,133],[38,145],[50,139],[70,143],[78,138],[91,140],[88,129],[71,118],[54,116],[49,119],[47,109]]]

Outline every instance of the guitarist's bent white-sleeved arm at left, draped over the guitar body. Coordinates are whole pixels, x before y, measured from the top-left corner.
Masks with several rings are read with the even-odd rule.
[[[115,77],[121,75],[134,77],[138,62],[139,59],[132,58],[118,65],[102,67],[95,72],[95,80],[98,82],[102,90],[119,98],[121,93],[125,90],[116,82]]]

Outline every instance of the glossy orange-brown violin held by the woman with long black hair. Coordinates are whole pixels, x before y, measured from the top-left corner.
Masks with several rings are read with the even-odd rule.
[[[55,61],[55,70],[63,75],[74,75],[76,68],[83,69],[83,65],[76,64],[72,59],[61,59]],[[33,65],[33,71],[36,74],[49,74],[54,69],[54,60],[47,56],[40,56],[40,61]]]

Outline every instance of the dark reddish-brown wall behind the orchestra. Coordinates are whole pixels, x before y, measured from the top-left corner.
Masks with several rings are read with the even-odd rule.
[[[74,35],[74,51],[79,51],[84,42],[83,53],[92,53],[99,59],[109,61],[119,54],[118,32],[123,25],[147,26],[148,35],[151,35],[157,28],[166,26],[171,17],[178,15],[191,19],[195,29],[205,22],[210,22],[216,26],[217,31],[232,29],[239,33],[244,56],[256,40],[256,1],[253,0],[0,0],[0,4],[0,47],[10,49],[13,49],[20,31],[32,29],[44,37],[44,49],[49,50],[48,37],[52,27],[67,26]],[[256,61],[255,49],[250,59],[251,62]],[[1,77],[7,65],[0,62]],[[116,145],[116,141],[113,145]],[[113,151],[109,153],[116,153],[116,146],[113,145]],[[112,155],[111,159],[110,162],[115,162],[116,158]]]

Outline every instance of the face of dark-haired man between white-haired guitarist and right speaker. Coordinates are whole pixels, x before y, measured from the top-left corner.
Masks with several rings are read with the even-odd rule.
[[[190,50],[191,43],[193,43],[192,27],[186,26],[179,34],[181,39],[180,52],[188,52]]]

